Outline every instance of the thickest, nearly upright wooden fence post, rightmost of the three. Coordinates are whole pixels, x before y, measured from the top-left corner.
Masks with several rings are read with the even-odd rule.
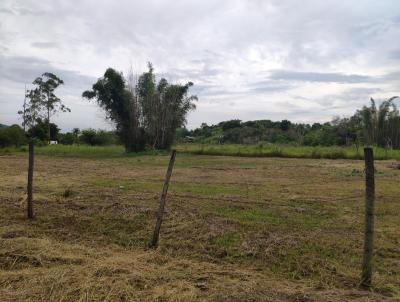
[[[369,288],[372,281],[372,257],[374,250],[374,202],[375,168],[372,148],[364,148],[365,158],[365,233],[361,286]]]

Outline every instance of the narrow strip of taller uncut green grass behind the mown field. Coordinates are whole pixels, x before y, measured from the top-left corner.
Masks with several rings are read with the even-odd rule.
[[[237,156],[237,157],[281,157],[281,158],[314,158],[314,159],[363,159],[363,148],[351,147],[307,147],[291,145],[175,145],[180,153],[193,155]],[[26,153],[26,146],[21,148],[0,149],[0,154]],[[140,155],[166,154],[163,151],[146,151],[139,154],[126,154],[122,146],[87,146],[87,145],[52,145],[36,147],[36,153],[49,156],[101,158],[101,157],[135,157]],[[400,160],[400,150],[374,148],[375,159]]]

